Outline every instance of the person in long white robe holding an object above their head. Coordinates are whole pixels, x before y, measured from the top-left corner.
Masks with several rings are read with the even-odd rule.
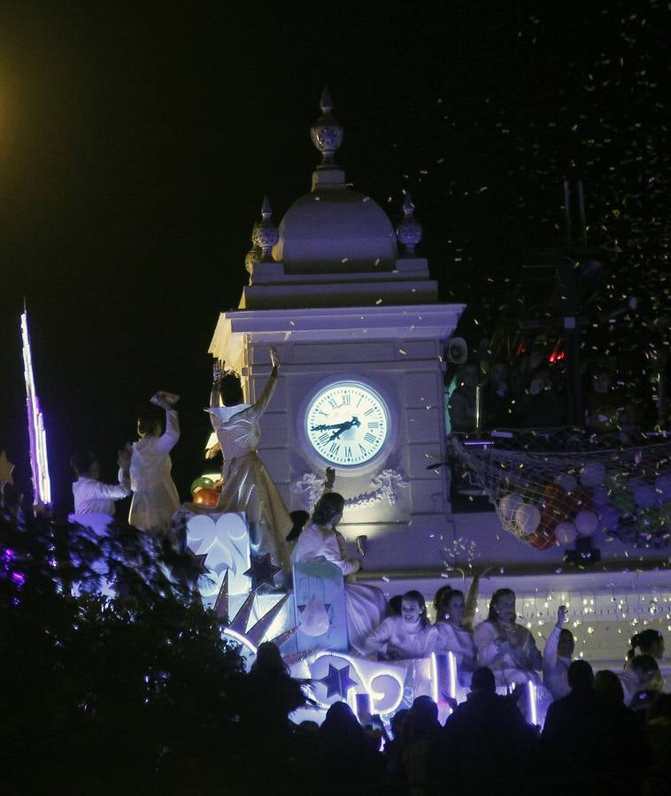
[[[140,439],[133,443],[130,460],[130,486],[133,501],[128,522],[141,531],[165,533],[180,505],[177,487],[171,476],[170,451],[180,439],[180,423],[174,409],[176,396],[157,393],[152,403],[166,412],[166,431],[161,433],[158,417],[149,412],[137,420]]]

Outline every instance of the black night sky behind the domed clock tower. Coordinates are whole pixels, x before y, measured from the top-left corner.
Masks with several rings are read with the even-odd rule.
[[[157,389],[182,396],[186,497],[217,314],[263,195],[279,222],[310,187],[325,84],[339,163],[394,222],[411,191],[443,299],[505,314],[528,249],[561,241],[562,178],[581,176],[592,240],[623,252],[604,302],[636,284],[622,334],[667,344],[648,324],[670,305],[668,23],[661,0],[3,4],[0,449],[17,480],[25,295],[57,504],[70,451],[92,446],[112,478]]]

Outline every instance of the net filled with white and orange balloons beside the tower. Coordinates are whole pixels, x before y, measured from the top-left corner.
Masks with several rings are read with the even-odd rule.
[[[450,444],[505,531],[536,549],[599,534],[635,547],[669,544],[669,442],[563,452]]]

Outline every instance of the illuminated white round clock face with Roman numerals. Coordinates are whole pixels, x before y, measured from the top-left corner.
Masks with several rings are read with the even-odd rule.
[[[359,467],[389,438],[389,410],[380,394],[359,381],[336,381],[314,395],[305,412],[312,448],[330,464]]]

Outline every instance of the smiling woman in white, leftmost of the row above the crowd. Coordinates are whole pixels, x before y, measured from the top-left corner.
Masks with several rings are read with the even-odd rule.
[[[427,606],[420,592],[406,592],[401,616],[388,616],[366,639],[366,653],[382,661],[424,658],[433,651],[436,628],[428,623]]]

